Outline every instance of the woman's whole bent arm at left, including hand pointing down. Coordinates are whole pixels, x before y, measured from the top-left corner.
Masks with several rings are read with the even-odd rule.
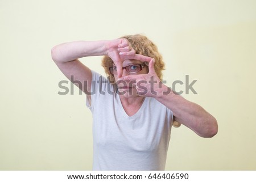
[[[126,39],[100,40],[100,41],[73,41],[63,43],[52,48],[52,60],[56,63],[63,74],[86,93],[90,92],[92,83],[92,71],[78,59],[88,56],[108,55],[117,65],[118,74],[122,75],[122,61],[127,57],[136,56],[135,51],[130,49]],[[125,54],[122,56],[122,54]],[[72,78],[72,79],[71,79]],[[89,99],[90,99],[90,95]]]

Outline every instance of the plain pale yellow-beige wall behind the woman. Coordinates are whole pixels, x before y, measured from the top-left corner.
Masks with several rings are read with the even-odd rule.
[[[255,0],[1,0],[0,170],[92,170],[85,95],[57,94],[66,78],[51,48],[134,33],[158,45],[169,86],[197,80],[183,96],[218,120],[214,138],[172,129],[166,170],[256,170],[255,10]],[[82,59],[104,74],[100,60]]]

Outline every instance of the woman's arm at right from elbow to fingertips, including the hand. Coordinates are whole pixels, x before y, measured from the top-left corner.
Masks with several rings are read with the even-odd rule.
[[[192,129],[199,136],[213,137],[218,132],[216,118],[200,105],[176,95],[171,88],[160,82],[155,73],[154,59],[150,61],[148,68],[148,74],[127,75],[119,78],[119,80],[136,81],[137,94],[154,97],[160,103],[166,105],[174,113],[175,121]],[[140,83],[143,83],[143,86]]]

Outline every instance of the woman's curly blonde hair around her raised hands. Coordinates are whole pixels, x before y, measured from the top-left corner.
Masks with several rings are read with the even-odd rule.
[[[139,34],[122,36],[120,39],[127,39],[135,50],[136,54],[142,54],[144,56],[155,58],[155,73],[162,81],[164,62],[162,55],[158,52],[157,46],[146,36]],[[110,81],[114,82],[114,75],[109,71],[109,67],[113,66],[112,59],[108,56],[104,56],[101,65],[104,67],[106,75],[109,77]]]

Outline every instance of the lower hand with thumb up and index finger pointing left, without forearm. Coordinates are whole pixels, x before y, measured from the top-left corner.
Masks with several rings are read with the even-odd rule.
[[[159,94],[160,88],[162,88],[162,82],[155,73],[155,59],[152,58],[148,63],[147,74],[127,75],[119,78],[118,81],[125,81],[136,84],[137,95],[156,97]],[[130,85],[130,84],[129,84]]]

